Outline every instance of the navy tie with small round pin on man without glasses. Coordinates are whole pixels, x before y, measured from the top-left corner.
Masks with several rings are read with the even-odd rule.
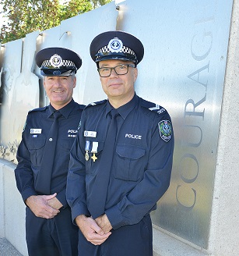
[[[51,172],[54,165],[54,152],[58,138],[58,118],[60,116],[62,116],[61,112],[54,112],[54,122],[51,125],[45,144],[44,154],[35,184],[35,190],[40,194],[50,194]]]

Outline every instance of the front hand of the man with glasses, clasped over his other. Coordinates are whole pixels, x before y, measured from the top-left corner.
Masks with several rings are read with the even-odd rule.
[[[86,217],[86,215],[77,216],[76,224],[86,237],[86,240],[94,245],[103,244],[111,235],[111,232],[104,233],[100,226],[97,225],[97,222],[91,217]]]

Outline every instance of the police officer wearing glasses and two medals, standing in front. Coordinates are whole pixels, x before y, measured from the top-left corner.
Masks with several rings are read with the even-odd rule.
[[[141,41],[123,31],[90,44],[107,100],[83,111],[69,162],[79,255],[153,255],[149,213],[169,187],[174,136],[167,110],[135,94],[143,54]]]

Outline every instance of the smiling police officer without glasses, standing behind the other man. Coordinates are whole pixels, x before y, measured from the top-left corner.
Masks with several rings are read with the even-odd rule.
[[[65,198],[69,151],[83,105],[72,99],[82,60],[66,48],[36,55],[50,105],[28,113],[17,152],[16,184],[26,204],[26,244],[30,256],[77,255],[78,228]],[[31,97],[31,95],[29,95]]]

